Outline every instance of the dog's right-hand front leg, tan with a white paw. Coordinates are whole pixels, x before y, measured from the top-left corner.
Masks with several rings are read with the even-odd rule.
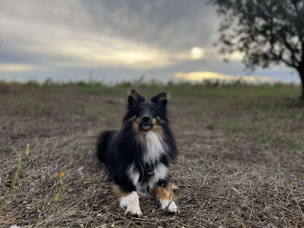
[[[174,185],[175,186],[175,185]],[[169,190],[169,191],[168,191]],[[173,188],[167,186],[167,188],[163,188],[161,186],[156,186],[153,190],[153,194],[156,196],[157,200],[161,205],[162,210],[167,210],[169,213],[176,213],[177,206],[173,201]]]

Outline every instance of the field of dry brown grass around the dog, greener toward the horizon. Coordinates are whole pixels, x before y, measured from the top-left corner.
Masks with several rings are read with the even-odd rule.
[[[178,214],[147,195],[144,216],[126,217],[95,159],[98,133],[119,128],[133,87],[147,101],[168,93]],[[282,84],[2,82],[0,227],[304,227],[299,93]]]

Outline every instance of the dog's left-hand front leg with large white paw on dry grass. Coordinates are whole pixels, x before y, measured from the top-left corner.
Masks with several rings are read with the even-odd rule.
[[[113,192],[119,197],[120,206],[126,207],[126,215],[140,218],[142,213],[139,206],[139,196],[137,192],[123,192],[119,185],[113,184]]]

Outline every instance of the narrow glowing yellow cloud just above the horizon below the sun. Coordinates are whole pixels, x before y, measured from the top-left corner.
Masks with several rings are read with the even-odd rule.
[[[230,74],[220,74],[216,72],[208,72],[208,71],[198,71],[198,72],[190,72],[190,73],[183,73],[178,72],[174,75],[176,79],[186,80],[186,81],[203,81],[203,80],[212,80],[218,79],[223,81],[263,81],[263,82],[270,82],[270,78],[266,77],[257,77],[257,76],[236,76]]]

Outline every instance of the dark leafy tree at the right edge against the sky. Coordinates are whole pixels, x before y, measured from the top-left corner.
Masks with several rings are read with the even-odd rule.
[[[304,104],[304,0],[209,0],[218,6],[221,53],[244,54],[246,67],[284,63],[302,81]]]

